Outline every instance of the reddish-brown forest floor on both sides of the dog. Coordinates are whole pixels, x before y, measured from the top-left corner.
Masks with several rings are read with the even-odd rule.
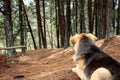
[[[96,44],[120,62],[120,36],[99,40]],[[80,80],[71,71],[75,67],[72,60],[74,53],[69,47],[29,50],[26,56],[18,54],[11,58],[1,55],[0,80]]]

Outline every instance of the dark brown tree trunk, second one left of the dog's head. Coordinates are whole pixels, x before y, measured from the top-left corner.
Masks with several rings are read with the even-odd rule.
[[[58,0],[58,19],[61,33],[61,47],[64,47],[65,41],[64,0]]]

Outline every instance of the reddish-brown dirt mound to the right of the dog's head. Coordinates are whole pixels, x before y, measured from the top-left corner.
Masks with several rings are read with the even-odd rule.
[[[116,35],[103,41],[101,48],[114,59],[120,58],[120,36]]]

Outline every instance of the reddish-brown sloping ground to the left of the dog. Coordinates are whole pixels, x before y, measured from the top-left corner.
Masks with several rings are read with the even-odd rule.
[[[80,80],[71,68],[75,66],[72,48],[27,51],[26,56],[14,56],[0,70],[0,80]]]

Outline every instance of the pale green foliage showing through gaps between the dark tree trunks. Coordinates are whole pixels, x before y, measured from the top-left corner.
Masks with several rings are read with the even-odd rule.
[[[34,1],[34,0],[33,0]],[[32,26],[33,34],[35,35],[35,41],[38,46],[38,29],[37,29],[37,17],[36,17],[36,9],[35,9],[35,3],[31,1],[29,4],[25,5],[25,9],[27,11],[28,19],[30,21],[30,25]],[[64,0],[63,0],[64,1]],[[77,0],[78,1],[78,0]],[[86,1],[86,0],[85,0]],[[12,8],[12,22],[13,22],[13,33],[14,33],[14,44],[20,45],[20,21],[19,21],[19,4],[18,0],[11,0],[11,8]],[[73,5],[74,4],[74,5]],[[80,4],[78,1],[77,4]],[[64,1],[64,14],[66,17],[66,1]],[[88,31],[88,13],[87,13],[87,1],[85,2],[85,27],[86,31]],[[117,5],[117,4],[116,4]],[[94,6],[94,0],[92,0],[92,9]],[[77,6],[77,30],[78,33],[80,33],[80,5]],[[57,8],[58,9],[58,8]],[[0,10],[3,11],[3,1],[0,0]],[[75,34],[75,1],[71,1],[71,33]],[[40,0],[40,11],[41,11],[41,17],[42,17],[42,25],[43,25],[43,4],[42,0]],[[24,15],[23,15],[24,16]],[[117,19],[117,8],[113,10],[113,17]],[[26,46],[29,45],[33,48],[33,42],[31,40],[31,35],[29,33],[29,28],[26,23],[26,19],[24,19],[24,29],[25,29],[25,44]],[[116,28],[117,21],[115,21],[115,27]],[[55,0],[45,0],[45,27],[46,27],[46,34],[47,34],[47,42],[48,46],[53,44],[53,47],[56,47],[56,10],[55,10]],[[95,30],[93,30],[95,33]],[[115,31],[115,30],[114,30]],[[16,36],[17,35],[17,36]],[[111,36],[111,35],[110,35]],[[4,29],[4,15],[2,12],[0,12],[0,40],[5,41],[5,29]]]

